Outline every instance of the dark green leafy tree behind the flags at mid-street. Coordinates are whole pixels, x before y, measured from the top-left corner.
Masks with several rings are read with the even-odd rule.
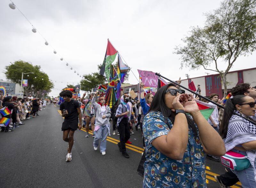
[[[101,66],[102,64],[98,65],[98,72],[93,72],[92,74],[86,74],[83,76],[83,79],[80,81],[81,90],[92,92],[93,88],[97,88],[100,84],[108,83],[107,78],[100,74]],[[117,62],[114,64],[114,67],[117,70]],[[126,74],[124,80],[129,79],[129,71]]]

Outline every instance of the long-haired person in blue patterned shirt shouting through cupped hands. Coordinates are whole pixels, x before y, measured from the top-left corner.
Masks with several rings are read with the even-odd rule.
[[[226,152],[193,95],[172,83],[156,92],[144,117],[143,133],[144,188],[206,187],[205,153],[221,156]]]

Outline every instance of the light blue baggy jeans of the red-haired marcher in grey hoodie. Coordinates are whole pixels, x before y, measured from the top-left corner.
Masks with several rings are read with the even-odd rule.
[[[107,148],[107,136],[108,136],[108,127],[107,126],[100,126],[100,128],[94,132],[95,138],[93,141],[93,147],[99,146],[99,140],[100,142],[100,152],[106,151]]]

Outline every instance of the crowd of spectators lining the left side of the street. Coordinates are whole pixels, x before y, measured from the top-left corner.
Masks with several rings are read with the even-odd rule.
[[[4,116],[10,119],[10,123],[1,127],[1,132],[9,133],[22,125],[24,121],[39,116],[38,112],[44,110],[47,100],[33,97],[18,98],[17,96],[3,96],[1,90],[0,109],[7,107],[10,114]]]

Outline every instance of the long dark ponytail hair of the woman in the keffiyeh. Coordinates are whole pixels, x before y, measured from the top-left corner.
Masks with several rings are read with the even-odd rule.
[[[233,115],[234,110],[236,110],[236,105],[244,103],[244,98],[245,95],[236,95],[233,98],[229,98],[226,101],[224,114],[223,118],[221,120],[221,125],[220,125],[220,136],[222,139],[227,137],[228,133],[228,122],[231,116]]]

